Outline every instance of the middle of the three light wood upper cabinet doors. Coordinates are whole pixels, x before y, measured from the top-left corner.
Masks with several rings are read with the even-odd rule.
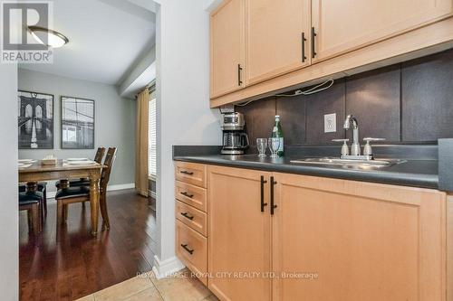
[[[310,64],[310,0],[247,0],[248,83]]]

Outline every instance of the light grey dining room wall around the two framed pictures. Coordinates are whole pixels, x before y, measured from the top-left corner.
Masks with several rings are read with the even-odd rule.
[[[98,146],[116,146],[118,155],[111,171],[110,185],[134,183],[136,102],[123,99],[117,88],[88,80],[75,80],[53,74],[19,69],[19,89],[53,94],[53,149],[19,150],[20,158],[42,159],[53,154],[58,158],[94,157]],[[95,149],[61,149],[60,96],[95,100]],[[17,114],[17,112],[16,112]],[[17,120],[15,121],[17,123]],[[17,133],[17,130],[15,130]],[[55,190],[53,183],[48,185]]]

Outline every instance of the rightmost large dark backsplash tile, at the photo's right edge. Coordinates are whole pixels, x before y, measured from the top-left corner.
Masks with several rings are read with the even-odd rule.
[[[402,64],[402,140],[453,137],[453,51]]]

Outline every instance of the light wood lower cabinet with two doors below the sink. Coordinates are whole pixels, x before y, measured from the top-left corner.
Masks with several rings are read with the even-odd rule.
[[[446,193],[209,165],[207,195],[222,300],[446,300]]]

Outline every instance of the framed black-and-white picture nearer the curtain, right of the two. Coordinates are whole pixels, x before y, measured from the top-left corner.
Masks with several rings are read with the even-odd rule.
[[[62,148],[94,148],[94,100],[62,96]]]

